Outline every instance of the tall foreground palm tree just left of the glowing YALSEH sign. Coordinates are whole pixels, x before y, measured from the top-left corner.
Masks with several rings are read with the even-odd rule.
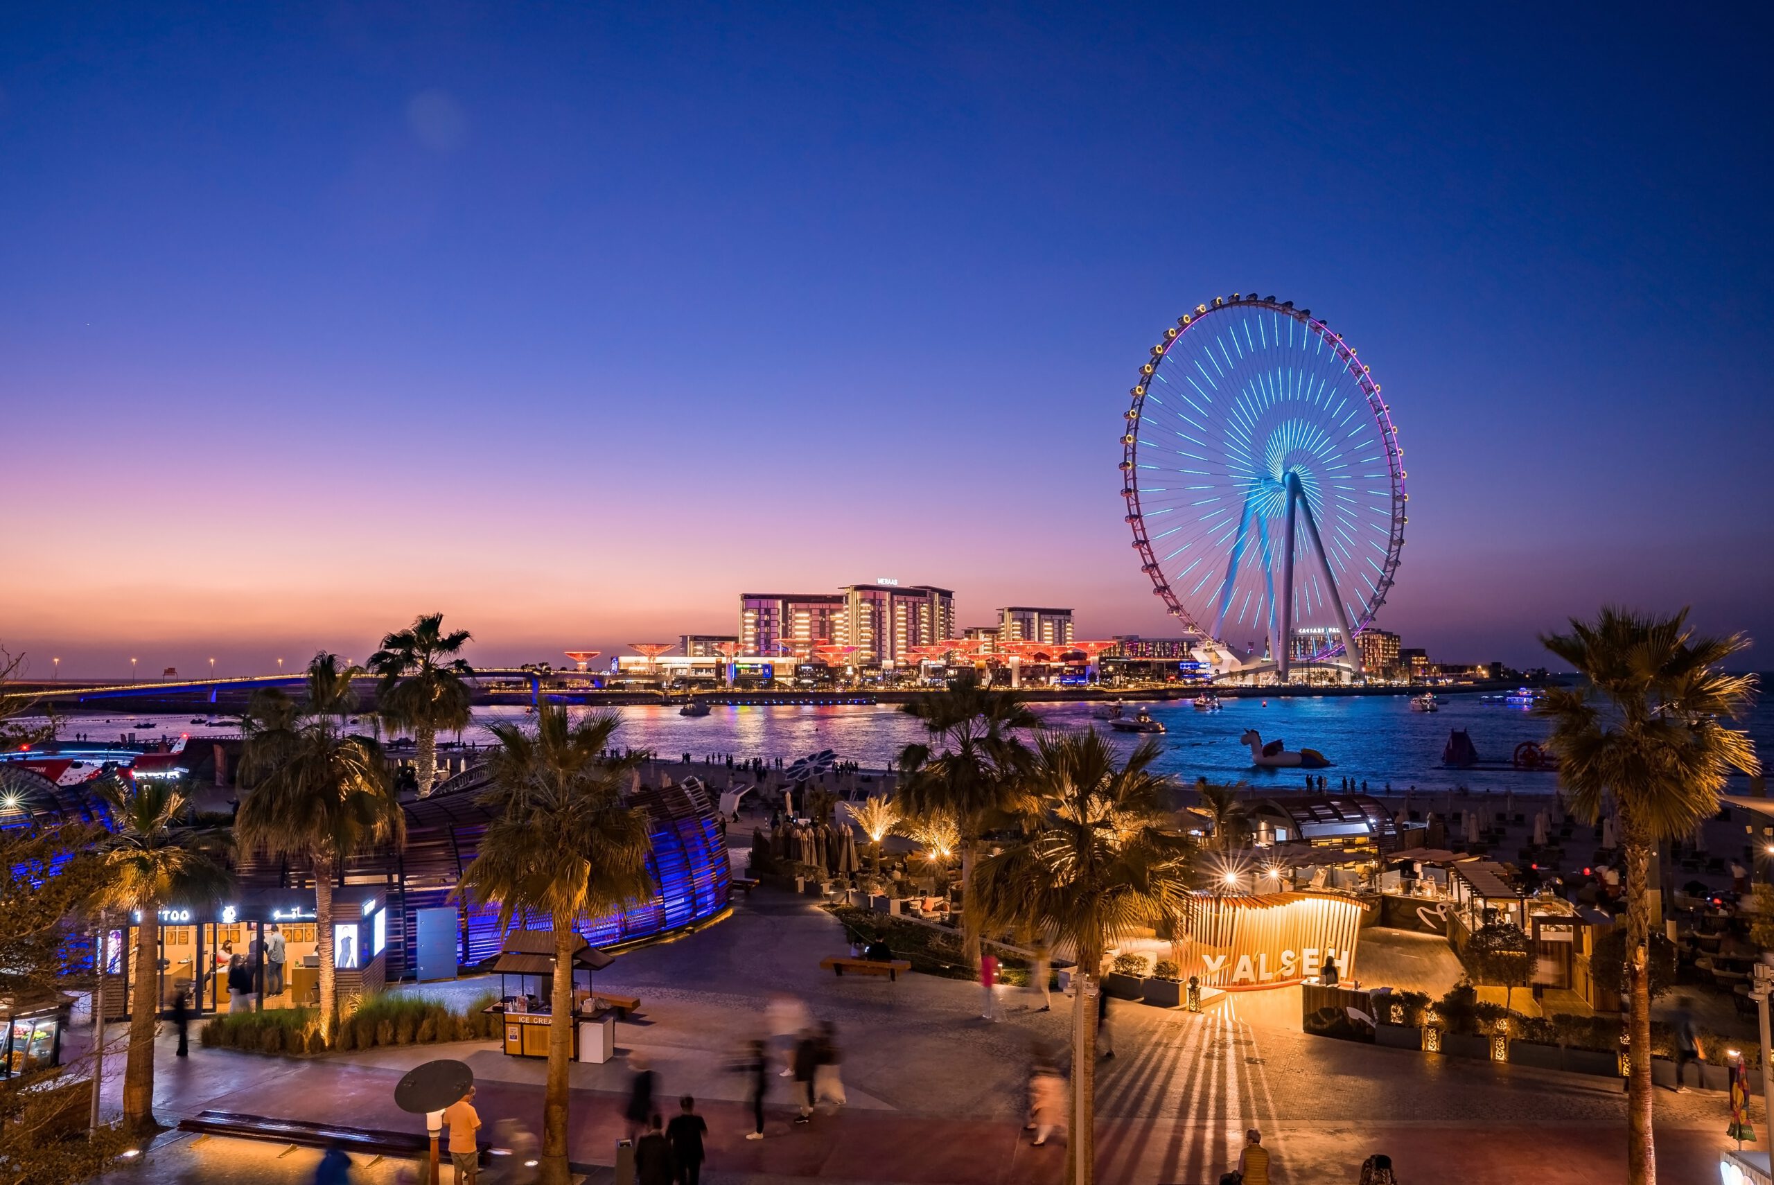
[[[1164,830],[1173,786],[1151,770],[1146,740],[1118,766],[1095,731],[1045,734],[1036,743],[1020,805],[1024,836],[977,869],[986,922],[1027,928],[1077,956],[1071,999],[1073,1123],[1070,1180],[1089,1185],[1096,1112],[1096,1016],[1089,985],[1109,947],[1137,928],[1181,912],[1189,841]]]

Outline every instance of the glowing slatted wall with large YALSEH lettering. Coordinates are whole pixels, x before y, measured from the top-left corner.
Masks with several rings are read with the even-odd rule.
[[[1362,905],[1316,892],[1190,898],[1183,979],[1210,988],[1284,988],[1322,976],[1327,963],[1350,979]]]

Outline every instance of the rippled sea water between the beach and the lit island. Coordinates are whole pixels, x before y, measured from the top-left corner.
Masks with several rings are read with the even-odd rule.
[[[1763,676],[1763,687],[1770,679]],[[1128,699],[1126,708],[1139,704]],[[1361,697],[1277,697],[1228,699],[1221,711],[1196,711],[1187,701],[1153,702],[1150,711],[1162,720],[1167,733],[1162,768],[1180,779],[1194,781],[1206,775],[1212,781],[1249,781],[1252,786],[1277,789],[1300,786],[1304,773],[1297,770],[1261,770],[1251,765],[1251,750],[1238,743],[1240,733],[1256,729],[1265,742],[1283,740],[1286,749],[1316,749],[1334,765],[1322,770],[1330,786],[1339,777],[1366,779],[1371,789],[1391,784],[1394,789],[1513,789],[1550,793],[1556,777],[1526,773],[1511,768],[1446,770],[1440,765],[1442,747],[1453,729],[1465,729],[1478,749],[1481,763],[1508,766],[1510,756],[1522,742],[1545,738],[1545,724],[1520,710],[1483,702],[1478,695],[1446,695],[1440,711],[1410,711],[1405,695]],[[1050,727],[1086,727],[1093,724],[1089,704],[1031,704]],[[864,766],[885,766],[901,745],[921,740],[917,720],[903,715],[896,704],[876,706],[773,706],[727,708],[715,706],[706,717],[679,717],[676,708],[635,706],[619,708],[623,727],[617,743],[630,749],[651,749],[660,756],[733,754],[734,757],[793,759],[820,749],[834,750],[843,761]],[[190,724],[188,717],[78,717],[64,722],[62,736],[75,731],[92,740],[115,740],[124,733],[147,736],[153,733],[192,733],[192,736],[227,734],[232,722],[211,717],[216,727]],[[475,726],[463,740],[486,742],[486,724],[498,720],[522,722],[522,708],[490,708],[475,713]],[[1096,727],[1105,727],[1095,722]],[[1763,695],[1744,722],[1765,756],[1774,752],[1774,702]],[[1132,749],[1139,738],[1111,733],[1114,742]],[[1739,789],[1742,789],[1739,779]]]

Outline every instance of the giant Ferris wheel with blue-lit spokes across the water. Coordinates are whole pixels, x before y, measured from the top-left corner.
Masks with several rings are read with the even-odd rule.
[[[1215,296],[1164,332],[1132,390],[1121,495],[1153,594],[1233,671],[1325,662],[1385,601],[1405,465],[1380,385],[1274,296]]]

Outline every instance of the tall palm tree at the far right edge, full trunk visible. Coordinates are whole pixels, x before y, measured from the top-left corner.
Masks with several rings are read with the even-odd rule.
[[[1552,720],[1559,784],[1574,812],[1593,823],[1613,800],[1620,821],[1632,951],[1627,1178],[1653,1185],[1648,866],[1659,843],[1692,832],[1719,809],[1730,770],[1756,770],[1749,736],[1721,724],[1739,717],[1754,692],[1754,676],[1719,669],[1749,640],[1696,637],[1685,608],[1657,617],[1611,607],[1540,640],[1584,679],[1549,690],[1538,706]]]

